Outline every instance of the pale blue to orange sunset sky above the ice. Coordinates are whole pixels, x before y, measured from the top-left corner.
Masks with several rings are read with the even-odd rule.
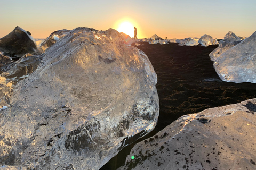
[[[46,38],[77,27],[117,30],[125,21],[137,28],[138,38],[223,39],[228,31],[242,37],[256,31],[255,0],[0,0],[0,6],[0,38],[16,26]]]

